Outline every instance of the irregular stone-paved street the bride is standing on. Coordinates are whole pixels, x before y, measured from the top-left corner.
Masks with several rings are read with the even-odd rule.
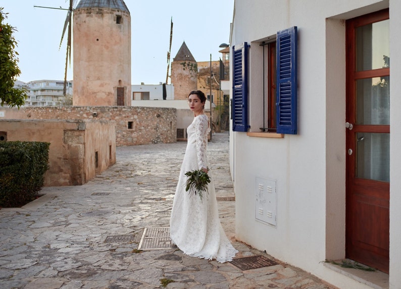
[[[144,228],[169,226],[185,146],[118,147],[116,164],[87,184],[45,187],[23,208],[1,209],[0,287],[334,288],[279,260],[242,271],[178,249],[137,250]],[[269,257],[235,240],[228,133],[213,135],[208,150],[221,222],[236,257]]]

